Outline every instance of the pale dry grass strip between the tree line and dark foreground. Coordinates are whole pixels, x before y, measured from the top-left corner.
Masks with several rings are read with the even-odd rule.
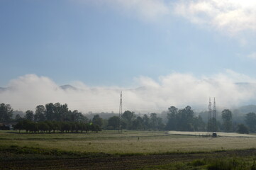
[[[0,145],[18,145],[79,152],[151,154],[165,152],[208,152],[247,149],[256,146],[254,137],[198,137],[166,132],[104,131],[90,134],[16,134],[0,132]]]

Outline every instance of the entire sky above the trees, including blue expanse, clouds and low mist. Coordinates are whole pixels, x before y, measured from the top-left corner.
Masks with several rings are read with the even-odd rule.
[[[252,0],[0,0],[0,87],[15,89],[0,103],[118,112],[121,90],[139,112],[207,108],[209,96],[248,103],[255,89],[233,83],[256,82],[255,9]]]

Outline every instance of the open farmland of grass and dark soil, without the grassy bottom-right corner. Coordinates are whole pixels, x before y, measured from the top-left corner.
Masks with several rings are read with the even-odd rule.
[[[169,162],[191,162],[194,159],[226,154],[249,157],[252,162],[256,151],[251,148],[255,146],[254,135],[213,138],[154,131],[50,134],[0,131],[1,164],[5,164],[7,169],[9,166],[18,169],[15,166],[18,164],[24,168],[31,160],[38,162],[33,169],[46,165],[52,167],[51,169],[58,169],[60,166],[60,169],[65,169],[75,164],[76,169],[97,169],[96,167],[103,167],[101,164],[106,166],[106,162],[112,162],[109,166],[119,165],[121,162],[140,163],[140,166],[135,164],[130,168],[115,166],[118,169],[136,169]],[[53,164],[59,165],[53,167]],[[106,169],[115,169],[109,166]]]

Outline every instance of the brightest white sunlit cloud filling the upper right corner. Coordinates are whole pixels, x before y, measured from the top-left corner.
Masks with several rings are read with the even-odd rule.
[[[256,31],[256,1],[193,0],[177,1],[174,12],[192,23],[204,24],[231,35]]]

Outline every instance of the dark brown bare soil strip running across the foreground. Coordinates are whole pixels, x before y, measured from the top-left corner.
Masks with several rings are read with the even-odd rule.
[[[214,157],[251,157],[256,149],[196,153],[196,154],[157,154],[125,157],[65,158],[65,159],[26,159],[1,161],[0,169],[139,169],[145,166],[190,162],[194,159]]]

